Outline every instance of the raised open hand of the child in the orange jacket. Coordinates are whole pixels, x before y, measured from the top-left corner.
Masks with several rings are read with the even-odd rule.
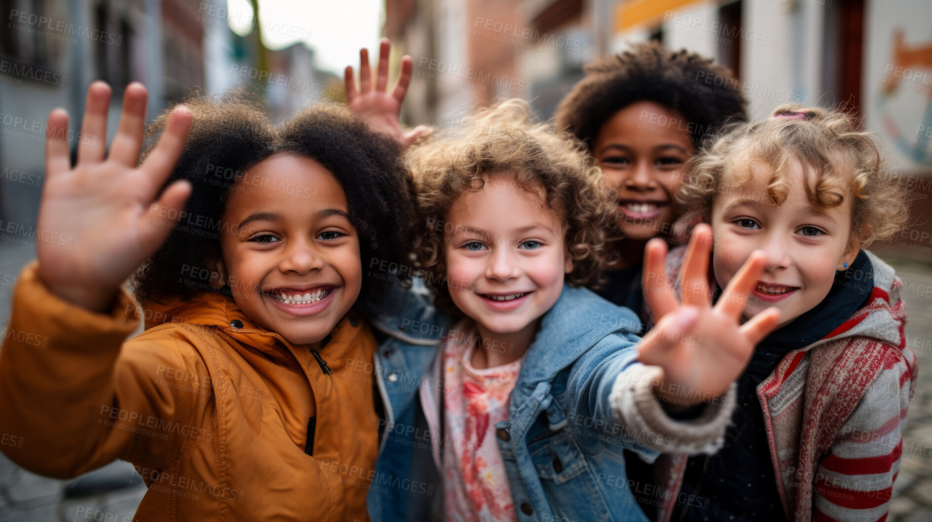
[[[62,299],[96,312],[106,310],[126,278],[165,242],[191,193],[188,181],[175,181],[156,199],[181,155],[191,112],[176,107],[158,145],[136,167],[145,87],[126,87],[117,134],[105,154],[110,94],[103,82],[88,89],[75,167],[65,138],[68,114],[48,114],[36,238],[39,277]]]

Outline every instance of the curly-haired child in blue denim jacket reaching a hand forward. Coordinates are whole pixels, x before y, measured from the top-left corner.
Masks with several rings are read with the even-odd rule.
[[[761,270],[752,256],[719,306],[673,302],[638,339],[637,315],[584,288],[612,261],[597,167],[528,120],[509,100],[408,152],[423,268],[410,296],[436,291],[455,322],[439,351],[396,349],[397,335],[379,347],[390,400],[374,520],[644,520],[624,449],[651,462],[719,448],[732,381],[778,320],[738,325]],[[697,295],[701,275],[683,277]],[[649,291],[676,300],[664,280]],[[382,324],[430,329],[431,308],[403,299]]]

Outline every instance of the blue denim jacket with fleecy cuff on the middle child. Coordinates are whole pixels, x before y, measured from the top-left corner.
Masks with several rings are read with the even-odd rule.
[[[440,341],[451,326],[423,288],[395,298],[374,327],[385,430],[369,514],[444,519],[441,450],[456,441],[440,424]],[[403,328],[404,327],[404,328]],[[660,452],[714,452],[733,410],[733,387],[692,421],[666,416],[652,393],[658,368],[636,361],[637,316],[585,288],[564,286],[541,327],[496,434],[519,521],[646,520],[629,489],[624,449],[646,462]]]

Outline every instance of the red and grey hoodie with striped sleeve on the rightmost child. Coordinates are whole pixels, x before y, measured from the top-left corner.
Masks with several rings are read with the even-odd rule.
[[[916,356],[906,344],[902,281],[867,252],[873,289],[829,335],[785,355],[757,388],[780,500],[789,520],[883,521],[902,457]],[[682,251],[671,252],[676,277]],[[665,491],[657,520],[678,498],[685,456],[654,466]]]

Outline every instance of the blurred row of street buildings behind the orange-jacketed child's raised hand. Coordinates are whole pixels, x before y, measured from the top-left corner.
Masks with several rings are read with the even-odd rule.
[[[48,112],[68,111],[74,152],[94,80],[114,89],[109,138],[131,81],[149,91],[149,120],[192,89],[243,88],[276,122],[308,102],[342,98],[342,81],[318,69],[303,43],[262,46],[263,27],[278,24],[234,33],[231,17],[253,12],[231,12],[226,0],[0,0],[0,14],[0,219],[26,228],[38,208]]]

